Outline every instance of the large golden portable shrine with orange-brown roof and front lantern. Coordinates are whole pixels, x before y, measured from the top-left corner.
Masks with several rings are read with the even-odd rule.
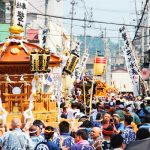
[[[13,117],[57,122],[56,102],[47,90],[50,84],[42,79],[50,76],[48,68],[60,67],[61,59],[29,43],[22,32],[21,27],[12,26],[10,37],[0,43],[0,115],[7,115],[7,122]]]

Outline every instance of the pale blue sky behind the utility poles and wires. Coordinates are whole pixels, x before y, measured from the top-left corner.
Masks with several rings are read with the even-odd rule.
[[[85,5],[83,3],[85,1]],[[136,1],[136,3],[135,3]],[[126,23],[126,24],[136,24],[136,15],[135,15],[135,4],[137,10],[141,9],[142,0],[76,0],[77,4],[75,5],[75,15],[74,18],[84,18],[84,12],[88,12],[90,16],[90,9],[93,9],[93,20],[96,21],[105,21],[105,22],[115,22],[115,23]],[[64,0],[64,16],[70,17],[71,12],[71,0]],[[145,4],[145,3],[144,3]],[[86,6],[86,9],[85,9]],[[140,16],[138,16],[140,18]],[[90,19],[90,17],[88,17]],[[70,21],[64,21],[66,28],[70,32]],[[75,26],[73,27],[73,34],[79,35],[83,34],[84,30],[82,27],[84,22],[73,22]],[[119,28],[121,26],[116,25],[106,25],[106,24],[91,24],[91,28],[87,29],[87,34],[93,36],[100,36],[101,32],[106,28],[106,37],[111,37],[113,40],[118,40]],[[95,29],[98,28],[98,29]],[[131,37],[134,36],[135,28],[129,27],[131,31]]]

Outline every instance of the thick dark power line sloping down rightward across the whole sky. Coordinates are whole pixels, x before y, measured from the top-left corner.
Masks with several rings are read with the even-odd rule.
[[[29,14],[39,15],[39,16],[45,16],[42,13],[30,12]],[[49,16],[49,17],[52,17],[52,18],[64,19],[64,20],[71,20],[70,17],[62,17],[62,16],[55,16],[55,15],[46,15],[46,16]],[[80,22],[85,21],[85,19],[80,19],[80,18],[73,18],[73,20],[80,21]],[[86,19],[86,21],[89,22],[89,23],[109,24],[109,25],[128,26],[128,27],[138,27],[137,25],[133,25],[133,24],[123,24],[123,23],[115,23],[115,22],[107,22],[107,21],[97,21],[97,20],[88,20],[88,19]],[[147,26],[139,26],[139,27],[150,28],[150,27],[147,27]]]

